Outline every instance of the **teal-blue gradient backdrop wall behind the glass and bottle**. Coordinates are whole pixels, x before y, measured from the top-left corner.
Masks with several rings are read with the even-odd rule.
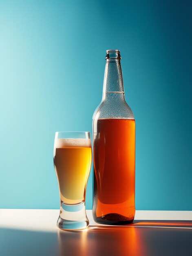
[[[136,119],[136,209],[192,210],[191,3],[0,1],[0,208],[59,208],[55,131],[91,131],[114,48]],[[92,196],[91,173],[87,209]]]

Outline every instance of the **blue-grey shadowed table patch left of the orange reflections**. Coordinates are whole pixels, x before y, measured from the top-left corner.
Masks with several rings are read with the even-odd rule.
[[[0,228],[0,256],[57,256],[57,233]]]

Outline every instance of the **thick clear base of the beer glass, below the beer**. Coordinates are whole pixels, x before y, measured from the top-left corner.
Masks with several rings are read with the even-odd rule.
[[[60,216],[57,220],[57,227],[59,229],[85,229],[88,225],[89,221],[86,216],[85,202],[73,205],[61,203]]]

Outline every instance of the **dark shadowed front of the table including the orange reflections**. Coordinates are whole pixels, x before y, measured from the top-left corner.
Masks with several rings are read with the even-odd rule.
[[[171,228],[191,226],[191,221],[137,220],[126,226],[57,233],[0,228],[0,255],[191,256],[192,229]]]

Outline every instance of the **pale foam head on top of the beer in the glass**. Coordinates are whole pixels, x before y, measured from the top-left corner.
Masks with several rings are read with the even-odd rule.
[[[55,139],[55,148],[90,148],[90,139]]]

